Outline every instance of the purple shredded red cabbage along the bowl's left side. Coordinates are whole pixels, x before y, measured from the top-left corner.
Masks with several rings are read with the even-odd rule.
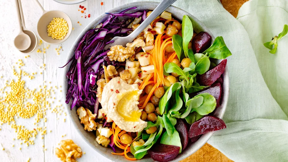
[[[90,76],[96,78],[97,82],[104,73],[103,65],[125,66],[125,62],[110,61],[107,57],[109,50],[104,51],[104,46],[113,43],[111,39],[115,36],[127,36],[128,32],[132,30],[127,27],[135,17],[142,16],[141,22],[146,19],[147,12],[145,10],[126,13],[136,8],[128,8],[120,13],[107,13],[110,16],[103,22],[102,26],[88,30],[79,42],[75,50],[75,56],[67,62],[71,65],[66,73],[68,89],[65,102],[68,104],[71,98],[73,99],[71,110],[75,106],[85,106],[92,112],[98,113],[101,105],[96,97],[97,85],[95,81],[91,84]],[[114,146],[114,143],[112,146]]]

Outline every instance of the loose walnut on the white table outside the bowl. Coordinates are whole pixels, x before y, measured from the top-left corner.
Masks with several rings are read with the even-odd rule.
[[[60,149],[56,148],[55,154],[63,162],[76,162],[76,158],[82,157],[82,150],[73,140],[62,140]]]

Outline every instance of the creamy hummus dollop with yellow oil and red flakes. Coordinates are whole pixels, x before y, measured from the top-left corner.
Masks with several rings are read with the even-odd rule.
[[[142,131],[147,127],[147,122],[140,119],[142,110],[137,106],[141,93],[137,84],[130,85],[120,77],[115,77],[103,88],[101,112],[122,130]]]

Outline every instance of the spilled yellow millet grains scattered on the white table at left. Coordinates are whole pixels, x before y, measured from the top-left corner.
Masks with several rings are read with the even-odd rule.
[[[29,146],[34,145],[34,140],[30,139],[31,137],[36,138],[38,134],[41,134],[43,139],[44,135],[46,135],[46,127],[38,127],[37,123],[47,122],[46,110],[51,110],[51,104],[48,99],[52,98],[51,92],[54,91],[54,89],[52,89],[52,86],[47,88],[46,85],[42,88],[40,85],[39,90],[30,90],[27,88],[22,77],[28,76],[30,79],[34,79],[33,75],[37,74],[37,72],[30,75],[21,70],[24,63],[22,60],[18,61],[19,62],[16,62],[16,64],[19,65],[19,72],[17,73],[16,70],[13,69],[13,75],[17,76],[17,81],[11,80],[10,83],[6,81],[5,86],[0,88],[0,124],[6,123],[10,125],[11,128],[15,129],[17,139],[21,140],[20,144],[24,142]],[[43,64],[43,66],[45,67],[46,65]],[[63,109],[64,107],[62,104],[58,105],[53,108],[52,113],[60,114],[63,112]],[[35,116],[34,125],[36,127],[31,130],[15,121],[17,118],[29,119],[33,116]]]

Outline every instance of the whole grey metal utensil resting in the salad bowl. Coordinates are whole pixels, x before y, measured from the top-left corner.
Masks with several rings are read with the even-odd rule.
[[[162,12],[164,12],[170,5],[172,5],[176,0],[162,0],[160,4],[153,10],[153,12],[138,26],[130,35],[126,37],[114,37],[111,44],[104,47],[105,50],[109,49],[111,46],[122,45],[126,46],[127,43],[133,42],[133,40],[141,33],[143,30],[149,26],[149,24]]]

